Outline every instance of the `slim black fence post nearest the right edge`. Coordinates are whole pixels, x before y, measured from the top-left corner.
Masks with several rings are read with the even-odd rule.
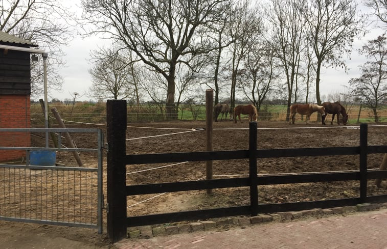
[[[360,203],[365,203],[367,199],[367,143],[368,125],[360,124]]]

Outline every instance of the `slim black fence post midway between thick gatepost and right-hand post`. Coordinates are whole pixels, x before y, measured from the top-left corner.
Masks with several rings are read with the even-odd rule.
[[[249,123],[248,139],[250,206],[252,216],[258,214],[258,176],[257,176],[257,122]]]

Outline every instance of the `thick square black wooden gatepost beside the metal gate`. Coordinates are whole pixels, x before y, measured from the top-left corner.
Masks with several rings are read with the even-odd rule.
[[[126,101],[106,102],[107,235],[112,242],[126,237]]]

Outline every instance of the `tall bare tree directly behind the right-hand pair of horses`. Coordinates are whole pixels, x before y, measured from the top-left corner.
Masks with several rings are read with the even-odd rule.
[[[306,8],[308,39],[316,60],[316,100],[321,104],[322,66],[342,66],[343,54],[350,54],[354,38],[363,31],[363,19],[357,16],[353,0],[313,0]]]

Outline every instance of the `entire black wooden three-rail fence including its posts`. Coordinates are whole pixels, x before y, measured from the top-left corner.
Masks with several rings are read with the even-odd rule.
[[[367,181],[369,179],[387,178],[387,171],[367,171],[368,154],[387,153],[387,146],[367,145],[367,124],[360,125],[360,145],[352,147],[257,150],[257,123],[251,122],[249,123],[248,150],[125,155],[126,116],[120,114],[125,114],[125,110],[126,101],[107,101],[107,230],[109,238],[113,241],[124,238],[126,236],[126,228],[133,226],[163,224],[183,220],[196,220],[224,216],[257,215],[257,213],[297,211],[312,208],[330,208],[356,205],[365,202],[377,203],[387,201],[387,195],[367,196]],[[359,155],[359,171],[257,176],[257,159],[259,158],[332,155]],[[198,161],[198,158],[200,158],[200,161],[249,159],[249,177],[130,186],[126,186],[125,184],[124,178],[126,175],[126,165],[128,164]],[[360,195],[358,198],[279,204],[258,203],[258,185],[349,180],[360,181]],[[250,205],[130,217],[126,216],[127,196],[226,187],[249,187],[251,195]],[[111,219],[114,219],[114,221]]]

